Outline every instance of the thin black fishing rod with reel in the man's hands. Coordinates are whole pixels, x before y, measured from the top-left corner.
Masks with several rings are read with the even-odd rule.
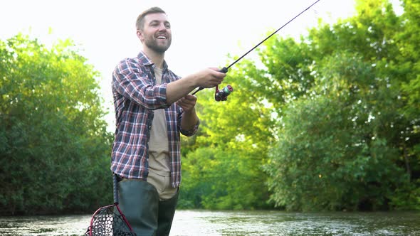
[[[313,4],[311,4],[310,6],[308,6],[307,9],[301,11],[300,14],[298,14],[295,17],[293,17],[292,19],[290,19],[290,21],[288,21],[283,26],[281,26],[280,28],[278,28],[277,31],[274,31],[273,33],[271,33],[271,35],[269,35],[267,38],[264,38],[263,41],[261,41],[260,43],[258,43],[257,45],[255,45],[253,48],[251,48],[251,50],[248,50],[248,52],[246,52],[245,54],[243,54],[240,58],[236,59],[233,63],[231,63],[231,65],[229,65],[227,68],[226,67],[222,68],[221,70],[219,70],[219,72],[221,72],[221,73],[227,73],[228,70],[229,70],[229,68],[231,68],[232,65],[235,65],[239,60],[241,60],[243,57],[245,57],[246,55],[248,55],[248,53],[251,53],[251,51],[253,51],[254,49],[258,48],[259,45],[261,45],[262,43],[264,43],[268,38],[271,38],[271,36],[275,35],[275,33],[277,33],[278,31],[280,31],[284,26],[287,26],[288,23],[292,22],[295,18],[298,18],[298,16],[300,16],[301,14],[303,14],[305,11],[308,11],[308,9],[310,9],[313,5],[317,4],[318,1],[321,1],[321,0],[315,1]],[[199,92],[200,90],[203,90],[203,89],[204,89],[204,87],[199,87],[195,92],[192,93],[192,95],[195,95],[197,92]],[[231,85],[226,85],[226,87],[222,88],[221,90],[219,90],[219,85],[216,85],[216,91],[214,92],[214,100],[216,100],[217,102],[219,102],[219,101],[226,101],[226,100],[228,100],[228,96],[231,94],[231,92],[233,92],[233,87]]]

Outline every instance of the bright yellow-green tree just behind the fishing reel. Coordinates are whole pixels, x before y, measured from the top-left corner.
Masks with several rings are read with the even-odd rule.
[[[182,206],[268,207],[267,176],[261,166],[273,142],[271,107],[247,82],[261,77],[256,67],[247,61],[241,66],[246,70],[231,70],[226,77],[233,87],[227,102],[216,102],[214,89],[197,94],[201,128],[190,144],[196,149],[183,157]]]

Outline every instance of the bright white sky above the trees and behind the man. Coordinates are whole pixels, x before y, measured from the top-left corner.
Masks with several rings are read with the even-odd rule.
[[[105,119],[112,130],[112,70],[142,50],[135,20],[145,9],[159,6],[167,12],[172,45],[165,60],[169,69],[185,76],[233,63],[228,54],[243,55],[315,1],[1,0],[0,40],[24,33],[48,46],[71,38],[101,74],[100,91],[109,112]],[[333,23],[354,14],[355,0],[320,0],[276,34],[298,37],[316,26],[318,18]]]

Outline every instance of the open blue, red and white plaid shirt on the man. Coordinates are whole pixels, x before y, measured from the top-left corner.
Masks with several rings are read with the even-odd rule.
[[[168,70],[164,62],[162,84],[154,78],[154,63],[140,52],[137,58],[126,58],[112,73],[116,130],[112,144],[111,170],[124,178],[147,180],[149,173],[148,141],[152,127],[153,110],[164,109],[169,142],[169,167],[172,186],[181,183],[180,133],[191,136],[194,129],[181,129],[183,110],[176,103],[167,104],[167,83],[180,77]]]

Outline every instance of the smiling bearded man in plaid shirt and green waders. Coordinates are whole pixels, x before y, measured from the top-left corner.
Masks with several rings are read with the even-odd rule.
[[[116,131],[111,170],[119,177],[120,208],[137,235],[169,235],[181,182],[180,134],[199,127],[189,95],[219,85],[225,73],[206,68],[186,77],[168,69],[171,24],[158,7],[136,21],[142,51],[112,73]]]

